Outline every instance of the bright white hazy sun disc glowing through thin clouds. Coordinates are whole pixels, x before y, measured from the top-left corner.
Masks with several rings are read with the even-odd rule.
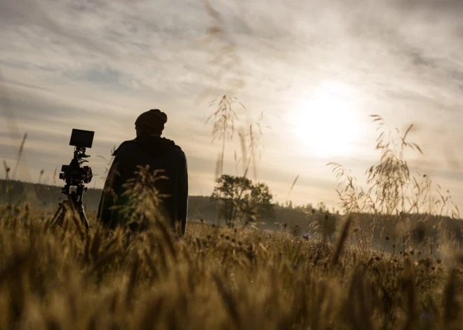
[[[352,102],[353,92],[346,85],[325,82],[311,97],[295,104],[290,126],[297,139],[312,156],[348,156],[361,130]]]

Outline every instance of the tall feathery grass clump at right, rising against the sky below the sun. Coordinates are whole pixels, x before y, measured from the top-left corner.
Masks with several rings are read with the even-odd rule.
[[[351,236],[356,245],[366,252],[377,248],[378,240],[384,240],[384,245],[388,243],[402,253],[417,246],[432,250],[436,244],[434,238],[417,235],[424,228],[430,234],[431,227],[441,235],[439,245],[448,245],[448,235],[452,233],[445,224],[449,217],[460,219],[459,210],[450,195],[444,196],[441,187],[434,185],[429,176],[410,170],[406,151],[422,153],[420,146],[408,141],[412,125],[401,134],[397,129],[389,129],[381,116],[372,118],[378,125],[375,149],[380,151],[380,160],[365,171],[365,184],[358,184],[342,165],[328,163],[339,182],[340,207],[354,219]],[[452,240],[451,244],[459,245],[459,242]]]

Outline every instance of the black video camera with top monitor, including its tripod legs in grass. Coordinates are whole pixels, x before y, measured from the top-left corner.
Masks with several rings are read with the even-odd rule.
[[[58,211],[53,217],[53,226],[61,226],[66,213],[71,210],[77,212],[83,226],[89,227],[88,219],[83,211],[83,191],[87,191],[84,184],[90,183],[93,178],[91,167],[82,166],[88,163],[90,156],[86,155],[86,148],[91,148],[95,132],[88,130],[72,130],[70,146],[74,146],[74,158],[69,165],[62,165],[60,179],[65,181],[61,192],[67,195],[65,202],[60,202]],[[75,190],[72,189],[75,187]]]

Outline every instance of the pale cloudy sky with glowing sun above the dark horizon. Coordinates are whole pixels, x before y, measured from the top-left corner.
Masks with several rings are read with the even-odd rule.
[[[168,115],[163,132],[187,155],[191,195],[211,193],[220,141],[207,118],[233,95],[236,127],[262,120],[257,179],[276,200],[337,205],[335,176],[361,181],[379,160],[380,115],[423,154],[429,174],[463,207],[463,1],[0,0],[0,155],[17,179],[53,183],[69,163],[72,128],[94,130],[90,165],[101,187],[114,146],[137,116]],[[239,139],[224,173],[242,174]],[[3,174],[4,175],[4,174]],[[101,176],[101,177],[100,177]],[[57,181],[56,184],[60,184]]]

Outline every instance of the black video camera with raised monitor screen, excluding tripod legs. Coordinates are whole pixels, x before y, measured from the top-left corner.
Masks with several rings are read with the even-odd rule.
[[[83,163],[88,163],[90,156],[86,155],[86,148],[91,148],[93,144],[93,136],[95,132],[86,130],[72,130],[71,141],[69,145],[74,146],[74,158],[69,165],[62,165],[60,179],[65,180],[65,187],[62,188],[62,193],[71,196],[74,200],[81,200],[83,191],[87,190],[84,184],[88,184],[93,178],[91,167],[82,166]],[[76,187],[76,192],[71,192],[71,187]]]

